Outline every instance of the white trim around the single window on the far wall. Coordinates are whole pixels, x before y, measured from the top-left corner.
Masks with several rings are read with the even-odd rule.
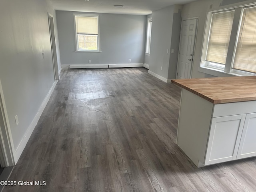
[[[79,50],[78,49],[78,40],[77,40],[77,36],[76,36],[76,16],[88,16],[88,17],[97,17],[98,18],[98,50]],[[100,51],[100,15],[98,15],[98,14],[76,14],[76,13],[74,13],[74,28],[75,28],[75,41],[76,41],[75,52],[101,52]]]

